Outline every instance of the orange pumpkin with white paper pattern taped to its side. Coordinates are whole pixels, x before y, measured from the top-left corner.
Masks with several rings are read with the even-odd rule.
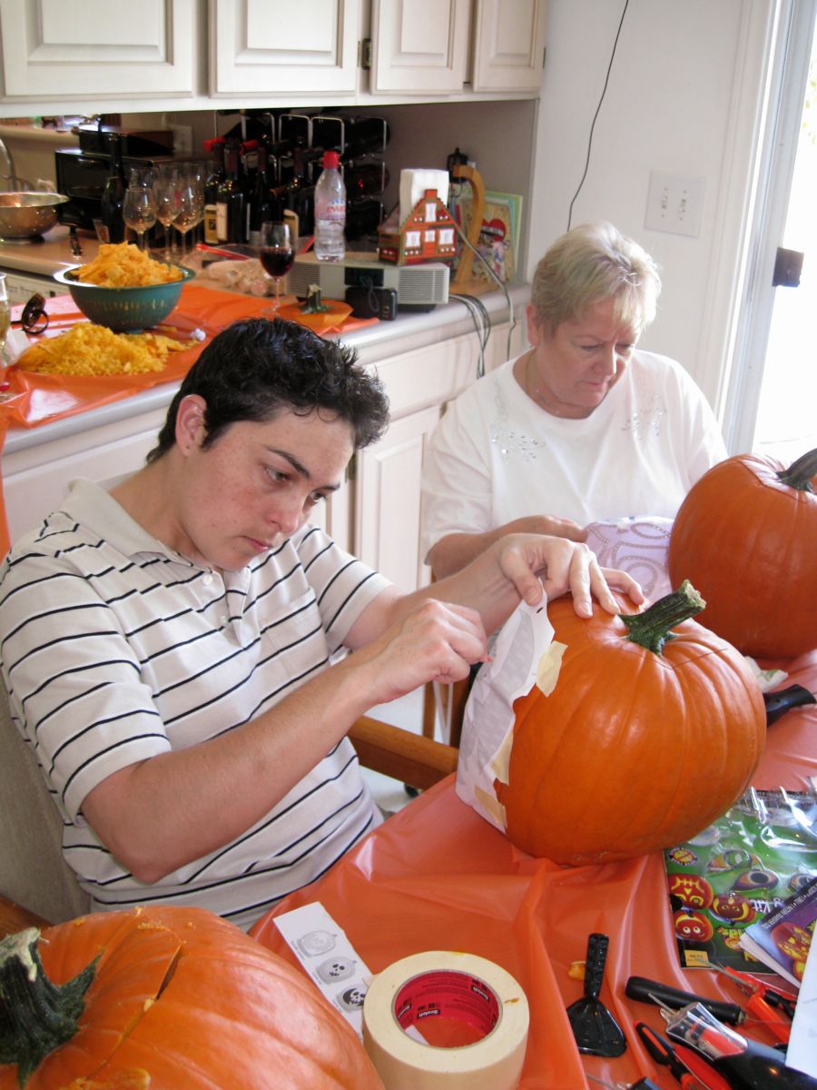
[[[570,597],[549,603],[558,679],[514,703],[509,782],[495,786],[509,838],[537,858],[608,862],[688,840],[743,794],[763,752],[760,689],[734,647],[688,619],[700,596],[684,583],[641,614],[618,601],[621,615],[595,605],[588,620]]]

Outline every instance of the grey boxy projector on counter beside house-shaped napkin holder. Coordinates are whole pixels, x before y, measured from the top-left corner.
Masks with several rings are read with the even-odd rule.
[[[449,267],[442,262],[422,265],[383,265],[367,254],[347,253],[342,262],[319,262],[313,253],[300,254],[290,269],[289,290],[305,299],[317,283],[324,299],[345,299],[346,288],[388,288],[398,293],[398,310],[431,311],[448,302]]]

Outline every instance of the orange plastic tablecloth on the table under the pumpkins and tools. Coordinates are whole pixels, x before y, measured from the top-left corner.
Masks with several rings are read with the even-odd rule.
[[[817,652],[785,668],[785,685],[798,681],[817,689]],[[769,728],[753,782],[760,788],[803,789],[810,775],[817,775],[814,705],[788,712]],[[681,968],[661,852],[577,868],[533,859],[460,801],[453,777],[390,818],[318,882],[281,901],[253,934],[297,965],[273,921],[314,900],[346,932],[373,972],[426,949],[467,950],[511,972],[531,1003],[522,1090],[598,1086],[586,1082],[585,1073],[613,1085],[646,1076],[676,1090],[635,1032],[637,1021],[659,1031],[664,1027],[656,1007],[624,995],[631,974],[733,1003],[745,1001],[712,970]],[[565,1015],[583,991],[568,969],[584,959],[593,931],[610,936],[601,1000],[629,1042],[617,1059],[580,1055]],[[773,1043],[758,1026],[751,1033]]]

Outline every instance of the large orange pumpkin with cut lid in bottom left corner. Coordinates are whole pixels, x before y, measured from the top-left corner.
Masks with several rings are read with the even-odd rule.
[[[31,940],[47,976],[66,988],[42,972],[28,980]],[[47,1005],[70,1015],[69,1036],[27,1090],[382,1090],[354,1031],[315,985],[211,912],[95,913],[45,931],[39,947],[36,940],[31,929],[2,944],[0,1006],[14,1024],[0,1033],[2,1090],[17,1090],[19,1058],[31,1054],[50,993]],[[68,984],[89,964],[89,986]]]

